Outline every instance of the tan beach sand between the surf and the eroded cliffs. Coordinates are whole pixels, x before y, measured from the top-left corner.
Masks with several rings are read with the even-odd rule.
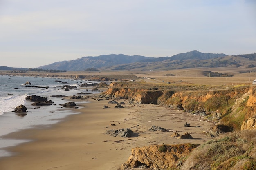
[[[75,100],[74,100],[75,101]],[[150,144],[199,143],[210,140],[204,131],[213,123],[190,113],[153,104],[128,104],[114,108],[109,100],[90,97],[57,124],[36,126],[13,132],[6,137],[31,142],[7,148],[14,155],[0,158],[0,170],[117,170],[131,155],[131,149]],[[103,109],[106,105],[110,108]],[[184,127],[184,123],[191,127]],[[150,132],[151,126],[169,132]],[[196,127],[200,126],[200,127]],[[130,128],[135,137],[122,138],[104,134],[107,129]],[[176,139],[171,135],[188,132],[194,139]],[[121,142],[115,142],[123,140]]]

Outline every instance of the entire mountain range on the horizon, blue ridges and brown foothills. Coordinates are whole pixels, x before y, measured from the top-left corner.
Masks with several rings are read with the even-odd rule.
[[[256,53],[229,56],[226,54],[201,53],[190,51],[172,57],[145,57],[141,55],[110,54],[97,57],[81,57],[76,60],[54,62],[40,66],[44,70],[84,71],[95,68],[101,71],[111,70],[168,70],[184,68],[232,67],[256,69]],[[16,68],[26,69],[26,68]],[[13,67],[0,66],[0,70],[15,70]]]

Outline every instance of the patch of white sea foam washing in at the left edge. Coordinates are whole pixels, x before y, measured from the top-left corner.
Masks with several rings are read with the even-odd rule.
[[[6,97],[0,97],[0,115],[4,112],[11,112],[17,106],[25,104],[26,95],[9,95]]]

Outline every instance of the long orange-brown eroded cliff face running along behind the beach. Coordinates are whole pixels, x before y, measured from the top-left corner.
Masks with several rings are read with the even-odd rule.
[[[256,128],[256,86],[222,89],[169,90],[110,84],[99,97],[131,99],[135,104],[159,104],[194,114],[205,113],[234,130]]]

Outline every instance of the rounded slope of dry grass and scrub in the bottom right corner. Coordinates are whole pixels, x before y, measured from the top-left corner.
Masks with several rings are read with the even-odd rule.
[[[195,149],[181,170],[247,170],[256,163],[256,130],[232,132]]]

